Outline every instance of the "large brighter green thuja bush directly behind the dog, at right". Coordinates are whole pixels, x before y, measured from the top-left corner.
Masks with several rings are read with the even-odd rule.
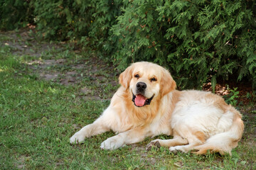
[[[114,61],[168,67],[178,86],[256,78],[255,1],[132,1],[112,26]],[[254,81],[254,86],[255,86]]]

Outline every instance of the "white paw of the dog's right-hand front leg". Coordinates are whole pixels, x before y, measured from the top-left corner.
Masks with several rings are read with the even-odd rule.
[[[122,139],[119,139],[118,136],[114,136],[114,137],[110,137],[107,140],[105,140],[104,142],[102,142],[102,144],[100,145],[100,148],[113,150],[113,149],[122,147],[122,145],[124,145],[124,142],[122,142]]]

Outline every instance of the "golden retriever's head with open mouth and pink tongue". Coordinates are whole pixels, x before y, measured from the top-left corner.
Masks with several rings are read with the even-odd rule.
[[[176,89],[176,82],[163,67],[151,62],[136,62],[119,76],[119,83],[129,90],[137,107],[149,105],[153,98]]]

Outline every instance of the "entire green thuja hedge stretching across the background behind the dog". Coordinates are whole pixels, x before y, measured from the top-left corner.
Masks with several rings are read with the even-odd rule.
[[[11,21],[33,21],[38,35],[90,45],[120,70],[131,62],[156,62],[170,70],[181,89],[200,87],[207,81],[214,87],[218,79],[249,80],[256,87],[253,0],[15,2],[23,3],[11,13],[23,6],[19,16],[23,19],[10,19],[15,15],[8,18],[1,11],[1,28]],[[7,0],[0,3],[10,4]]]

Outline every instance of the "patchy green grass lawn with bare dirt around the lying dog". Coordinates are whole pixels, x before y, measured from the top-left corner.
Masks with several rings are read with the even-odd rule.
[[[245,133],[232,157],[174,155],[163,147],[147,152],[149,138],[100,149],[113,132],[70,145],[107,108],[118,74],[92,52],[38,42],[29,33],[0,33],[0,169],[256,169],[253,103],[239,108]]]

